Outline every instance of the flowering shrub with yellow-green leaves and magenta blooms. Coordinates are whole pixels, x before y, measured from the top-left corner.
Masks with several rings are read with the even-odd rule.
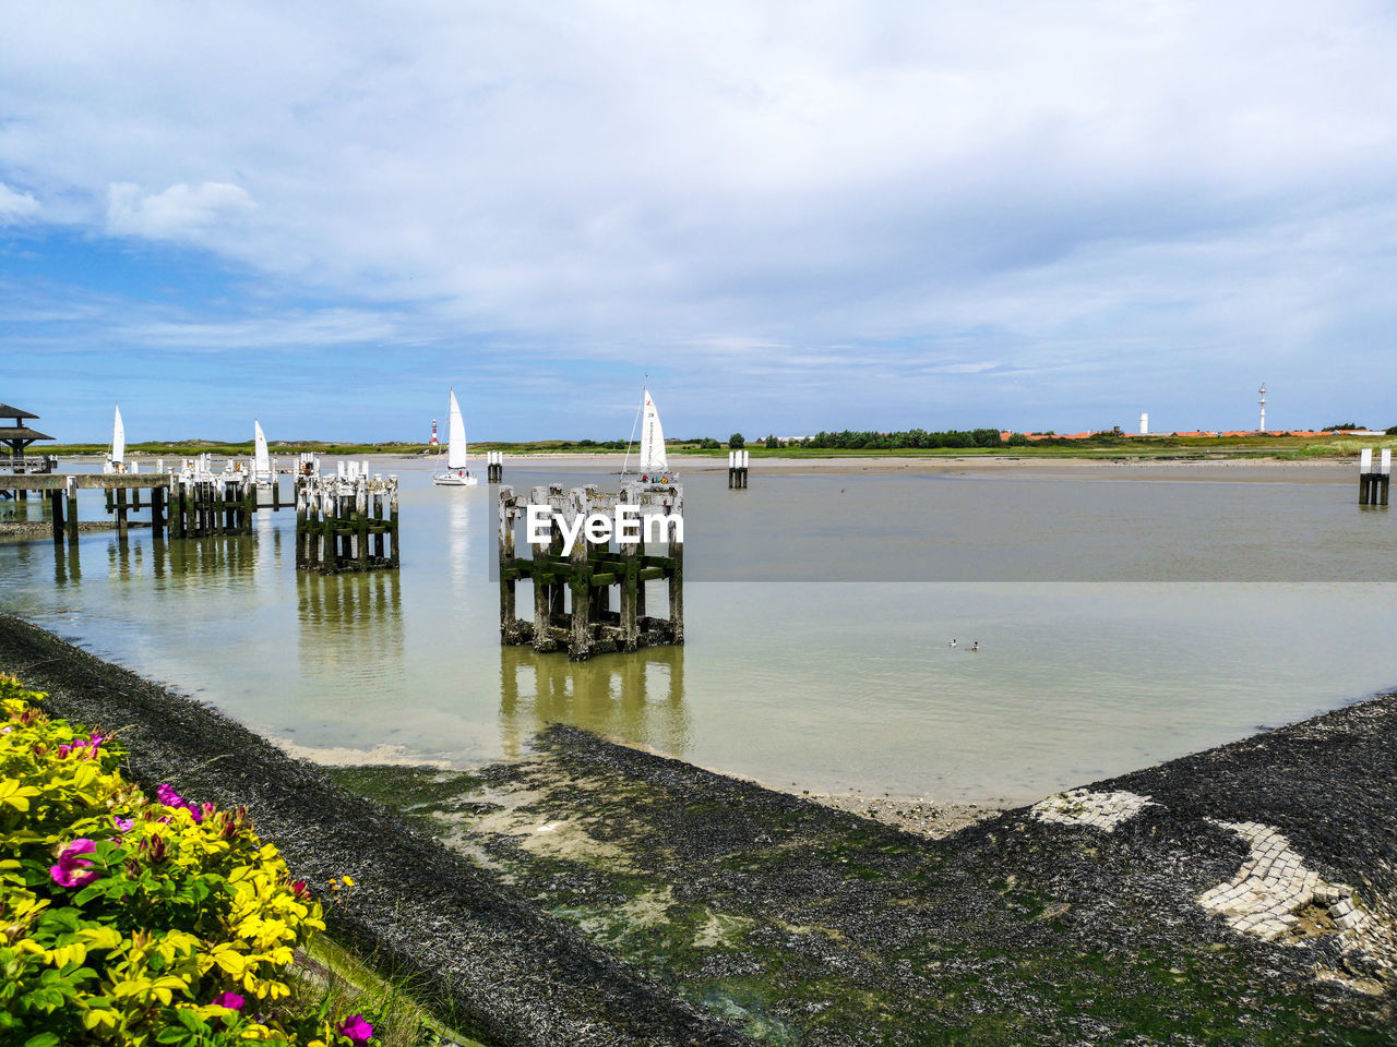
[[[151,801],[36,698],[0,677],[0,1043],[369,1043],[360,1015],[288,1013],[324,913],[247,812]]]

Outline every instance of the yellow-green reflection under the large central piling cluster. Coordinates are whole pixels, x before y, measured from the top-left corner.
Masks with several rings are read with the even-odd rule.
[[[500,744],[507,759],[550,723],[685,758],[685,649],[643,648],[570,662],[532,648],[500,648]]]

